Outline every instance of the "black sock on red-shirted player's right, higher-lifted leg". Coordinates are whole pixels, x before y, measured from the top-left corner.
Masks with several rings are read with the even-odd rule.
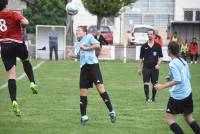
[[[30,82],[35,83],[32,65],[29,60],[23,61],[24,72],[26,73]]]

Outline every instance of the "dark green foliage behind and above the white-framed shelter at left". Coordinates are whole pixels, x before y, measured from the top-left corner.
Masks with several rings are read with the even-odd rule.
[[[65,25],[65,0],[34,0],[27,2],[24,15],[30,21],[28,32],[35,32],[35,25]]]

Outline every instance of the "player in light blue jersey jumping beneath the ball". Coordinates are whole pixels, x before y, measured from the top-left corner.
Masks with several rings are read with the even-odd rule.
[[[76,50],[80,53],[80,112],[81,112],[81,124],[85,125],[88,121],[88,116],[86,114],[87,108],[87,95],[88,88],[93,87],[93,83],[96,86],[97,91],[102,97],[104,103],[106,104],[109,110],[109,116],[111,122],[114,123],[116,121],[116,113],[113,110],[110,98],[108,93],[105,90],[103,79],[101,75],[101,71],[98,64],[98,59],[95,55],[95,50],[100,47],[99,42],[91,35],[86,34],[87,28],[85,26],[78,26],[76,30],[76,36],[78,39],[78,43],[76,46],[80,50]],[[68,54],[69,57],[74,58],[76,55],[72,51]]]

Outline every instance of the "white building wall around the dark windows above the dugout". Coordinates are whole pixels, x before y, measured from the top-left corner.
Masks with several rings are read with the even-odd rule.
[[[200,0],[175,0],[175,21],[184,21],[184,9],[199,8]]]

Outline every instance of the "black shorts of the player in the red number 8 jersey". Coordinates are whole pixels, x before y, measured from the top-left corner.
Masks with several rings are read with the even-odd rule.
[[[28,59],[28,50],[24,43],[2,43],[1,57],[6,71],[9,71],[16,65],[16,57],[19,57],[22,61]]]

